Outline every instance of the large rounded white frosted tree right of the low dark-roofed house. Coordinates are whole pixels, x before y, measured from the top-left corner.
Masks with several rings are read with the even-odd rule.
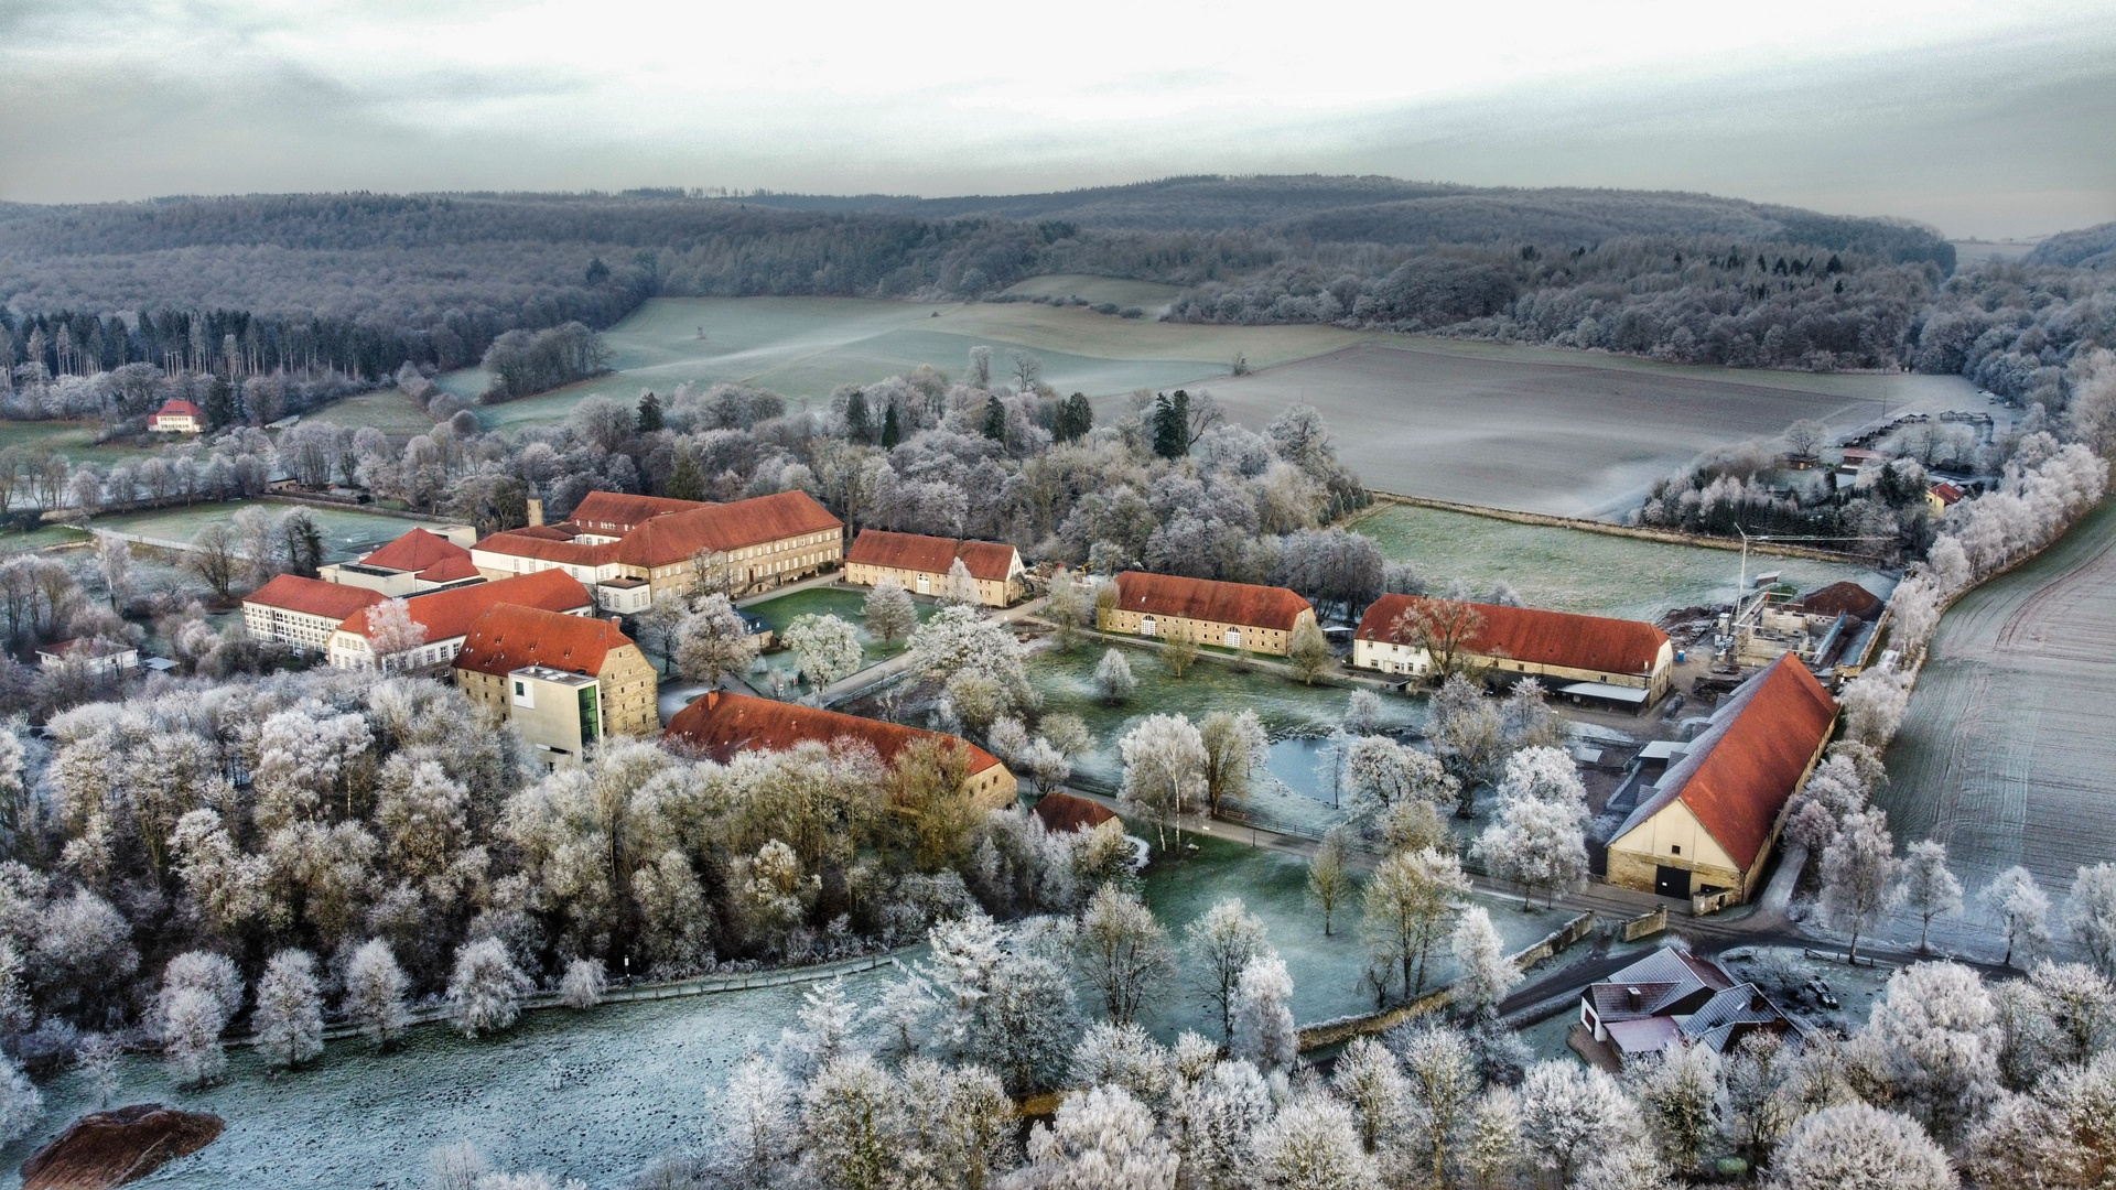
[[[1913,963],[1887,976],[1847,1065],[1934,1137],[1953,1139],[1998,1097],[1998,1014],[1976,972]]]

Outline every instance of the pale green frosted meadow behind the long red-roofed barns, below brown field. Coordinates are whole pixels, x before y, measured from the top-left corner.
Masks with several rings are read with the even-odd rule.
[[[1411,563],[1420,578],[1445,587],[1462,578],[1481,599],[1507,582],[1530,608],[1589,616],[1657,620],[1672,608],[1733,599],[1741,555],[1676,546],[1585,529],[1521,525],[1413,504],[1390,504],[1358,521],[1390,561]],[[1801,591],[1830,582],[1862,582],[1877,595],[1896,580],[1873,570],[1796,557],[1750,555],[1748,574],[1780,572]]]

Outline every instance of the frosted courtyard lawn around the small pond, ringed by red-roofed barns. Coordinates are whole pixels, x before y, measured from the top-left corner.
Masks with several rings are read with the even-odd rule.
[[[1272,775],[1287,781],[1295,794],[1320,794],[1325,803],[1329,800],[1329,790],[1314,777],[1314,743],[1301,739],[1327,735],[1342,724],[1350,690],[1301,686],[1261,669],[1238,673],[1219,661],[1200,661],[1176,678],[1157,652],[1119,646],[1138,680],[1138,692],[1124,705],[1111,707],[1094,686],[1094,667],[1109,648],[1113,646],[1107,642],[1088,639],[1075,644],[1071,652],[1045,648],[1028,659],[1028,682],[1043,695],[1043,714],[1075,714],[1094,735],[1096,750],[1073,762],[1077,777],[1113,790],[1121,777],[1117,741],[1147,716],[1183,714],[1196,722],[1219,709],[1253,709],[1274,741]],[[1422,697],[1384,695],[1382,709],[1386,728],[1424,724]]]

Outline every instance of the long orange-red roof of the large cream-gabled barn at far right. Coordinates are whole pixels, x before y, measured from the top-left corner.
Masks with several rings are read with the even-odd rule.
[[[1837,699],[1790,652],[1741,684],[1691,750],[1667,767],[1617,834],[1680,800],[1727,855],[1748,870],[1777,813],[1837,724]]]

